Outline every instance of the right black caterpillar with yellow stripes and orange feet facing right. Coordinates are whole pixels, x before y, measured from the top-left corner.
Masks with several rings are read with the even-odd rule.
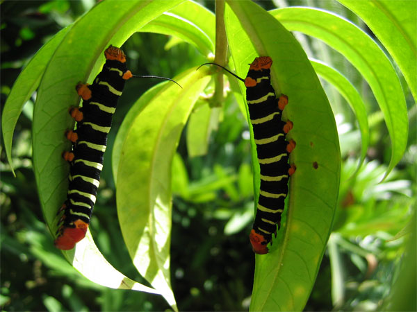
[[[206,64],[222,67],[215,63]],[[282,94],[276,98],[270,83],[271,66],[272,58],[269,56],[255,58],[245,79],[222,67],[245,83],[247,106],[261,169],[259,200],[250,232],[252,250],[256,254],[268,253],[267,245],[272,244],[272,234],[275,237],[277,235],[284,200],[288,195],[288,178],[296,170],[294,164],[288,164],[295,141],[286,141],[286,134],[293,128],[293,123],[281,119],[281,112],[288,104],[288,96]]]

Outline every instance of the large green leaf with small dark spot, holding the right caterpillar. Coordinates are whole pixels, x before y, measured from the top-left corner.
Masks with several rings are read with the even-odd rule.
[[[278,238],[270,253],[256,255],[250,310],[301,311],[316,279],[336,208],[341,162],[336,123],[316,73],[293,35],[250,1],[227,3],[238,17],[230,10],[225,15],[237,73],[245,77],[247,64],[256,56],[272,58],[272,86],[277,96],[282,92],[289,98],[284,119],[293,121],[288,138],[297,143],[291,153],[297,171],[291,177],[289,205]],[[259,173],[254,174],[259,181]]]

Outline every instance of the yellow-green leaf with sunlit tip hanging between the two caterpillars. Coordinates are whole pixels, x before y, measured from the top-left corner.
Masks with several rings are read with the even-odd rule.
[[[117,177],[117,214],[133,263],[177,310],[170,285],[171,164],[179,137],[210,78],[195,68],[166,85],[133,121]]]

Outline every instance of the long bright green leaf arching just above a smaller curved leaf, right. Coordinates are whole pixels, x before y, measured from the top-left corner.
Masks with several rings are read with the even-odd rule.
[[[270,14],[288,31],[300,31],[332,46],[366,79],[384,113],[391,137],[388,175],[407,147],[408,119],[400,80],[384,52],[360,28],[333,13],[312,8],[283,8],[272,10]]]

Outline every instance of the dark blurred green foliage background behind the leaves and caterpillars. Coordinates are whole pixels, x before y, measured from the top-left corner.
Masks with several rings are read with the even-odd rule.
[[[213,10],[213,1],[199,1]],[[324,8],[347,17],[373,36],[336,1],[259,1]],[[42,44],[95,5],[95,1],[3,1],[1,10],[1,107],[22,67]],[[391,300],[416,306],[416,105],[404,86],[409,107],[409,140],[402,161],[384,182],[391,155],[389,135],[372,92],[340,54],[295,33],[306,53],[347,76],[368,109],[368,157],[352,177],[360,154],[360,134],[349,105],[324,83],[332,103],[343,157],[334,232],[330,236],[306,311],[376,311]],[[205,58],[186,43],[164,35],[136,33],[123,46],[129,69],[138,75],[174,77]],[[138,275],[122,243],[115,209],[111,150],[117,128],[131,105],[158,81],[126,84],[109,135],[92,235],[106,259],[128,277]],[[81,276],[53,246],[44,225],[31,164],[31,116],[36,94],[24,107],[15,130],[13,177],[3,145],[1,170],[1,295],[3,311],[161,311],[163,297],[97,286]],[[253,220],[253,187],[247,121],[229,94],[223,118],[206,155],[188,157],[186,131],[174,157],[171,274],[179,310],[247,311],[254,255],[247,235]],[[414,240],[407,249],[407,239]],[[409,252],[404,253],[404,250]],[[414,252],[414,255],[413,253]],[[405,273],[404,273],[405,272]],[[404,280],[404,275],[409,280]],[[408,284],[407,284],[408,283]],[[411,283],[411,284],[410,284]],[[414,284],[413,284],[414,283]],[[398,286],[400,285],[400,286]],[[403,286],[411,291],[402,291]],[[414,288],[413,288],[414,287]],[[414,289],[414,293],[413,293]],[[391,295],[390,295],[391,294]],[[401,299],[401,296],[404,299]],[[400,298],[400,299],[399,299]],[[407,303],[411,303],[407,305]],[[411,310],[410,310],[411,311]]]

